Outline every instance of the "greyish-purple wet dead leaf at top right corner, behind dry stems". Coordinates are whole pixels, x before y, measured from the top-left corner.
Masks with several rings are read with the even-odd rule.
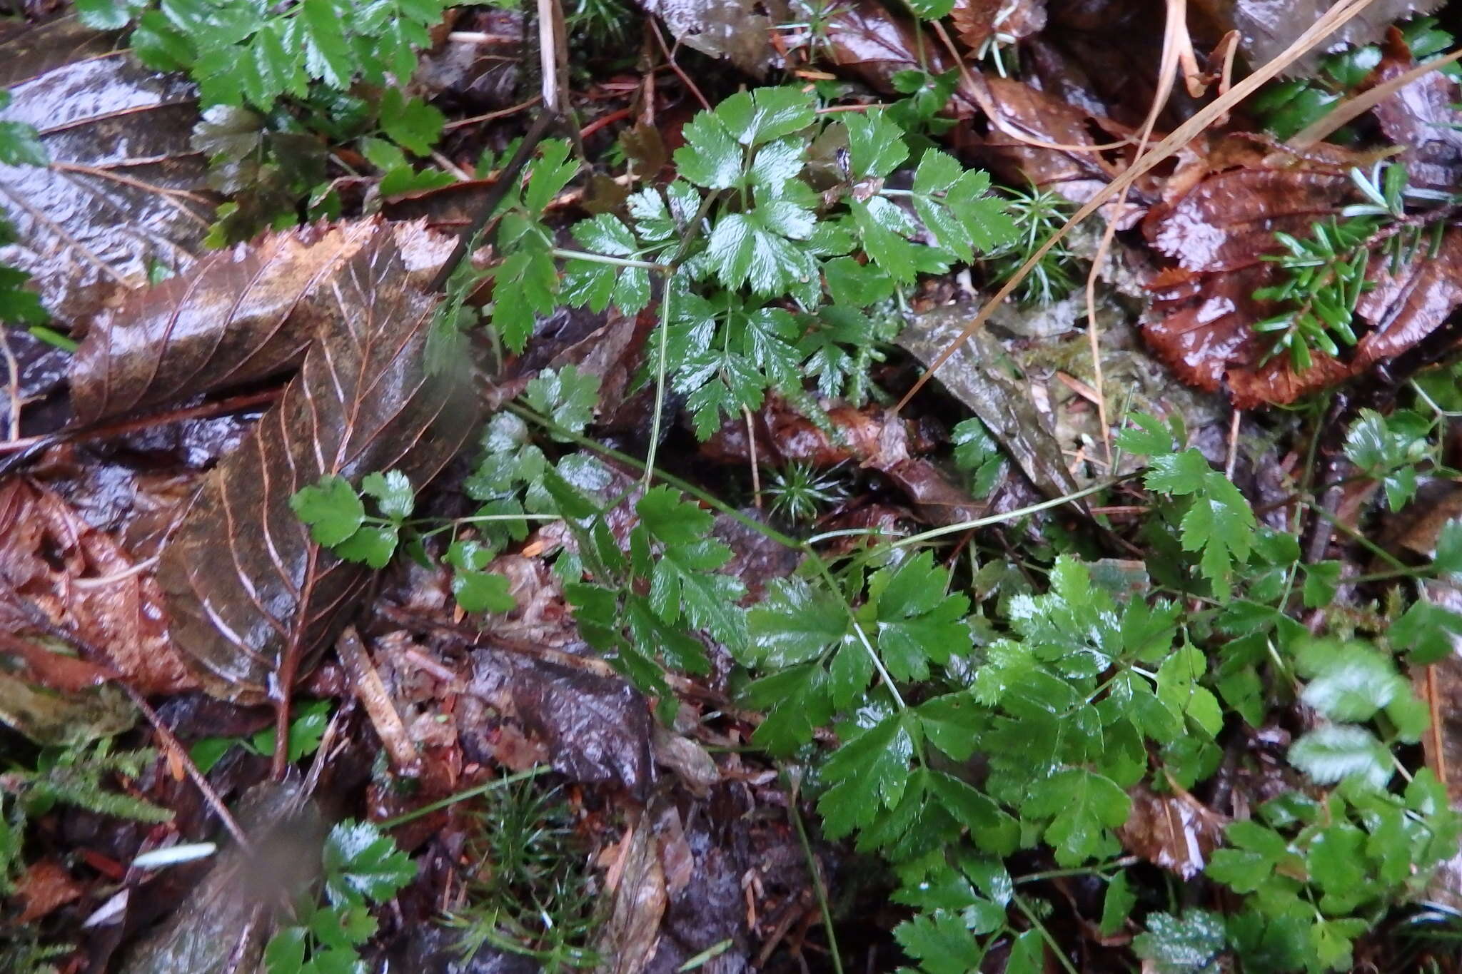
[[[1205,6],[1224,9],[1227,4]],[[1289,44],[1320,19],[1333,0],[1237,0],[1230,16],[1238,31],[1240,44],[1250,64],[1263,64],[1278,57]],[[1414,13],[1428,13],[1442,6],[1440,0],[1374,0],[1341,29],[1307,51],[1287,69],[1292,77],[1307,77],[1319,67],[1320,58],[1347,44],[1379,41],[1386,28]]]

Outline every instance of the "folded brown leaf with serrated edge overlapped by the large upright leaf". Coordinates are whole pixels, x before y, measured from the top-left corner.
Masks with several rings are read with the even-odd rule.
[[[72,362],[82,423],[268,378],[298,365],[333,308],[320,288],[374,223],[303,228],[209,256],[102,311]]]

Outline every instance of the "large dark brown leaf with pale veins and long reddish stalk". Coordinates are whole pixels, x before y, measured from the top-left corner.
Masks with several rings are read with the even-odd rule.
[[[205,688],[234,701],[282,699],[370,581],[310,537],[289,498],[323,476],[358,483],[373,470],[421,486],[477,426],[468,364],[458,356],[461,368],[439,374],[425,364],[437,295],[404,254],[436,235],[367,225],[360,250],[316,285],[322,314],[300,374],[209,475],[162,552],[174,640]]]

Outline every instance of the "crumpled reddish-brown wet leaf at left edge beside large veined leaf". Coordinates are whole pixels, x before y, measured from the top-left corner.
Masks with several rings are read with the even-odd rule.
[[[137,571],[115,540],[66,501],[12,478],[0,483],[0,626],[13,634],[32,628],[26,605],[104,653],[91,663],[110,667],[142,694],[197,686],[173,647],[162,590],[152,575]],[[42,669],[56,667],[31,664],[39,678]],[[53,679],[70,678],[54,672]]]

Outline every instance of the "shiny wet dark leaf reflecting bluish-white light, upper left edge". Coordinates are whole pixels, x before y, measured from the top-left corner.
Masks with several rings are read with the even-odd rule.
[[[42,302],[72,321],[154,266],[186,269],[202,251],[215,197],[189,143],[197,92],[139,64],[75,18],[0,42],[0,120],[35,126],[47,166],[0,165],[0,202],[18,242],[0,263],[32,275]]]

